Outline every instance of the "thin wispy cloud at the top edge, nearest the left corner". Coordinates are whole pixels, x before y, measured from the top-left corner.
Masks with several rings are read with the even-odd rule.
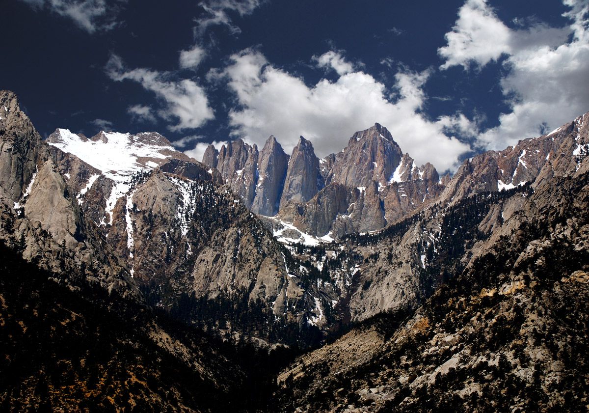
[[[46,8],[92,34],[108,30],[117,24],[116,18],[122,1],[106,0],[21,0],[36,9]]]

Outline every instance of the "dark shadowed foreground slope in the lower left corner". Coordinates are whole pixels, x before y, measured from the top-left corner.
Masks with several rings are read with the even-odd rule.
[[[4,245],[0,257],[1,411],[244,405],[244,373],[223,344],[100,287],[72,292]]]

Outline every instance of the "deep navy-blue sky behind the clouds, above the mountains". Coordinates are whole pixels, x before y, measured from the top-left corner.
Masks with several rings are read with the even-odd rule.
[[[200,137],[198,140],[193,138],[184,149],[194,147],[197,141],[226,141],[236,136],[263,142],[267,136],[254,135],[267,133],[288,135],[277,136],[279,141],[283,138],[286,142],[284,146],[288,148],[289,140],[306,131],[314,140],[315,146],[320,148],[319,152],[329,151],[327,144],[319,142],[330,138],[320,136],[325,134],[321,123],[341,122],[328,119],[333,118],[330,115],[333,112],[326,111],[325,119],[313,114],[313,111],[317,111],[316,108],[323,107],[323,103],[317,100],[325,99],[327,102],[332,93],[326,91],[320,96],[313,95],[317,84],[322,81],[336,84],[338,80],[343,81],[340,77],[348,72],[362,72],[382,86],[385,103],[395,105],[400,98],[402,100],[402,94],[399,95],[400,79],[396,74],[416,75],[426,71],[426,80],[415,84],[422,97],[417,107],[413,106],[413,113],[428,124],[435,124],[440,117],[453,117],[449,127],[442,130],[438,124],[438,130],[444,131],[448,137],[455,136],[478,151],[482,147],[493,147],[492,140],[497,139],[492,134],[484,137],[479,135],[492,128],[499,134],[502,133],[502,127],[508,127],[507,121],[502,124],[499,118],[501,113],[524,113],[525,111],[518,112],[519,108],[514,107],[514,104],[517,105],[527,98],[537,100],[533,91],[518,89],[518,85],[523,84],[518,77],[518,71],[524,70],[521,57],[525,54],[521,50],[527,47],[522,46],[525,41],[522,40],[523,36],[517,37],[518,33],[527,31],[531,33],[528,37],[534,38],[542,38],[543,34],[547,34],[548,39],[544,43],[552,51],[564,44],[567,47],[579,47],[585,53],[584,47],[587,45],[587,37],[574,39],[573,29],[570,28],[574,18],[562,16],[571,7],[559,1],[547,0],[533,3],[519,0],[269,0],[260,4],[257,0],[209,0],[204,3],[181,0],[165,3],[153,0],[107,0],[105,8],[90,16],[90,26],[85,27],[79,20],[72,18],[68,7],[81,4],[86,8],[98,6],[100,9],[102,0],[59,0],[57,3],[61,4],[61,8],[56,8],[59,6],[55,5],[52,8],[44,0],[8,0],[2,6],[0,26],[7,37],[2,42],[0,88],[18,94],[21,105],[45,137],[58,127],[91,136],[100,130],[98,124],[101,122],[97,120],[104,120],[112,130],[156,130],[171,141],[187,136]],[[577,13],[581,15],[581,26],[584,24],[586,28],[586,9],[583,11],[583,6],[587,5],[587,1],[577,3],[578,10],[581,10]],[[213,15],[211,9],[230,19],[230,22],[217,21],[205,25],[205,20]],[[485,61],[485,58],[477,57],[476,52],[471,52],[471,56],[464,58],[462,62],[456,60],[457,63],[441,70],[439,67],[449,57],[439,54],[438,49],[448,45],[445,34],[458,25],[461,10],[464,12],[465,22],[468,23],[469,11],[475,14],[481,12],[482,16],[475,15],[473,19],[481,18],[484,24],[489,22],[490,25],[500,22],[505,30],[511,31],[511,37],[504,45],[504,53],[499,50],[496,58]],[[468,29],[472,28],[465,30]],[[564,31],[560,35],[564,41],[554,41],[554,38],[558,38],[554,34],[556,29]],[[456,31],[459,32],[460,29],[455,28],[454,32]],[[195,44],[206,51],[206,57],[196,68],[181,69],[178,64],[179,52],[190,49]],[[480,48],[481,45],[474,47]],[[482,45],[482,48],[485,47]],[[538,48],[538,44],[533,47]],[[338,74],[336,70],[329,70],[329,65],[327,68],[319,67],[317,58],[329,51],[335,51],[353,69]],[[230,85],[231,81],[239,80],[236,78],[239,75],[232,77],[226,71],[235,64],[235,60],[231,60],[231,55],[234,54],[256,54],[265,59],[264,68],[271,68],[289,78],[302,81],[313,95],[310,95],[309,100],[316,105],[315,110],[310,108],[307,111],[310,113],[297,114],[302,109],[297,107],[296,100],[286,99],[284,105],[293,105],[292,116],[300,115],[300,120],[296,120],[294,126],[284,129],[275,127],[279,129],[277,131],[254,127],[252,124],[269,124],[266,120],[273,116],[272,113],[260,114],[260,111],[271,111],[260,102],[270,96],[267,100],[280,107],[280,93],[288,96],[289,92],[275,92],[273,86],[268,84],[263,90],[249,90],[246,95],[240,96],[236,90],[239,85]],[[136,79],[127,77],[125,80],[115,80],[105,70],[112,56],[123,62],[123,67],[119,68],[120,74],[144,68],[159,76],[160,81],[167,85],[177,85],[183,80],[193,81],[201,88],[214,118],[202,121],[197,128],[174,127],[178,125],[178,118],[174,108],[170,107],[170,96],[158,94]],[[583,78],[585,73],[577,75]],[[568,78],[572,76],[567,73],[564,75]],[[522,77],[525,78],[525,71],[522,72]],[[257,80],[266,81],[263,75]],[[558,82],[558,79],[554,81]],[[515,87],[506,86],[514,83]],[[586,88],[586,84],[584,87]],[[346,94],[355,100],[355,105],[359,104],[358,94],[343,92],[343,98],[342,95],[339,96],[343,99],[342,105],[347,104]],[[517,97],[515,100],[514,95]],[[365,97],[366,100],[371,98],[371,94]],[[363,98],[360,97],[360,100]],[[560,115],[562,119],[555,115],[543,119],[536,114],[534,119],[528,121],[532,127],[505,133],[532,133],[533,125],[541,125],[542,122],[547,123],[546,127],[557,127],[560,125],[558,122],[571,120],[565,117],[575,111],[581,114],[589,110],[589,107],[583,107],[587,103],[584,97],[579,97],[573,108],[563,111]],[[150,108],[151,115],[133,116],[129,111],[133,105]],[[388,106],[382,108],[386,111]],[[257,121],[240,122],[229,116],[230,110],[237,113],[249,110],[246,116]],[[374,122],[383,123],[390,129],[393,125],[386,124],[387,122],[403,121],[400,115],[390,118],[385,116],[384,120],[370,119],[370,110],[372,109],[363,111],[361,107],[355,108],[346,119],[354,117],[354,113],[362,112],[358,117],[358,124],[355,125],[352,119],[349,125],[346,124],[350,130],[337,133],[345,135],[347,139],[355,130],[369,127]],[[288,116],[289,110],[280,112],[286,112]],[[376,117],[382,112],[376,109],[374,113]],[[405,108],[400,111],[401,115],[403,113]],[[541,113],[540,108],[538,113]],[[460,115],[468,121],[468,127],[464,122],[462,128],[457,126]],[[310,117],[312,121],[309,121]],[[285,124],[292,119],[286,119],[283,123],[277,121]],[[296,130],[296,122],[301,124],[300,131]],[[411,134],[411,130],[419,128],[419,125],[416,123],[412,128],[407,128],[406,133]],[[230,135],[232,131],[233,134]],[[399,130],[398,133],[405,134],[403,131]],[[537,134],[540,134],[540,130]],[[528,136],[521,136],[525,137]],[[399,137],[401,143],[403,139],[409,142],[408,137]],[[419,139],[421,138],[415,138],[416,147],[423,146]],[[507,142],[506,138],[505,143]],[[501,141],[498,146],[503,143]],[[341,146],[340,141],[334,145]],[[412,153],[412,144],[406,143],[405,146]],[[403,149],[406,150],[405,147]],[[333,147],[333,150],[338,148]],[[448,156],[462,158],[468,154],[464,147],[455,147]],[[418,154],[419,160],[426,157],[426,154]],[[449,164],[443,165],[448,166]]]

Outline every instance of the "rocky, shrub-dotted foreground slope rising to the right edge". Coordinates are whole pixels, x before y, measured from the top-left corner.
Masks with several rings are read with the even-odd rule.
[[[589,173],[535,188],[414,315],[297,359],[277,411],[587,411]]]

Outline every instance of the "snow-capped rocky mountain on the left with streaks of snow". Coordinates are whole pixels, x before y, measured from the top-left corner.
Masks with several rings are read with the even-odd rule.
[[[326,276],[317,283],[319,270],[274,239],[231,190],[237,181],[224,185],[219,171],[155,133],[87,138],[60,129],[43,142],[16,97],[3,97],[12,108],[4,148],[34,149],[29,165],[27,153],[15,150],[5,151],[11,156],[2,164],[22,171],[3,175],[3,187],[18,185],[22,194],[2,198],[2,235],[23,247],[25,259],[39,260],[72,288],[100,282],[188,325],[257,345],[308,346],[332,327],[333,318],[317,312],[345,292]],[[243,165],[256,153],[237,144],[233,150],[242,150]],[[273,151],[279,147],[264,157]],[[273,162],[264,162],[268,173]]]

